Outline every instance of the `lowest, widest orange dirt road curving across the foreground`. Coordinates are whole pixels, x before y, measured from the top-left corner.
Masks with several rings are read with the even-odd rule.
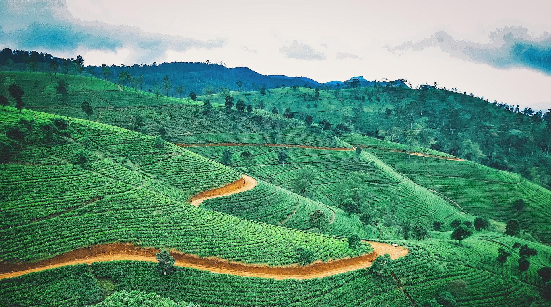
[[[199,258],[196,255],[182,254],[172,251],[170,254],[176,260],[175,266],[197,268],[213,273],[222,273],[243,277],[262,277],[274,279],[307,279],[321,278],[338,273],[344,273],[371,266],[377,255],[390,254],[392,259],[405,256],[406,248],[395,247],[390,244],[368,242],[375,249],[374,252],[347,259],[332,260],[326,263],[317,261],[307,266],[269,267],[266,265],[246,265],[238,262],[214,259],[213,257]],[[91,264],[99,261],[134,260],[156,262],[155,248],[139,248],[129,243],[109,243],[80,248],[57,255],[51,259],[26,264],[0,263],[0,278],[21,276],[30,272],[47,270],[75,264]]]

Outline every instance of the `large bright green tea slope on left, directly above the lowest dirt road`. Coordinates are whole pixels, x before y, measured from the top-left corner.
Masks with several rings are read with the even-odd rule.
[[[4,174],[0,190],[6,199],[0,230],[2,259],[44,259],[108,242],[167,246],[201,256],[271,264],[297,262],[294,250],[299,246],[315,251],[318,259],[369,251],[368,246],[351,250],[345,239],[187,205],[190,195],[233,182],[240,174],[169,143],[159,149],[150,136],[71,119],[71,136],[56,135],[45,144],[39,126],[54,116],[8,108],[0,111],[2,141],[8,141],[4,131],[17,127],[21,118],[34,119],[34,114],[37,123],[26,145],[12,162],[0,165]],[[83,143],[86,136],[88,146]],[[87,151],[83,165],[75,158],[78,150]],[[212,226],[198,227],[206,222]]]

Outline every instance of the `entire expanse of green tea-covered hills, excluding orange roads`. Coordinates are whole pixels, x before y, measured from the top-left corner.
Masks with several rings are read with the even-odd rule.
[[[446,290],[461,307],[551,306],[545,299],[549,284],[537,273],[551,266],[551,192],[538,175],[547,169],[547,157],[537,147],[528,158],[524,145],[515,145],[509,165],[496,165],[504,171],[473,162],[495,164],[504,152],[484,162],[464,150],[466,142],[453,139],[488,133],[488,146],[479,147],[487,154],[496,140],[503,148],[515,144],[500,139],[510,132],[505,125],[543,131],[544,124],[527,123],[522,114],[449,91],[423,94],[390,86],[320,90],[318,98],[305,87],[228,92],[252,112],[228,111],[223,95],[214,94],[206,113],[202,101],[156,97],[87,76],[2,72],[0,79],[8,75],[24,90],[25,107],[19,112],[9,98],[6,111],[0,109],[0,268],[117,242],[223,260],[220,266],[228,260],[293,267],[301,261],[301,247],[311,251],[309,263],[328,265],[377,252],[377,243],[350,247],[353,234],[406,246],[409,253],[392,261],[392,274],[379,276],[368,268],[301,280],[224,275],[208,267],[175,267],[164,276],[155,263],[130,260],[62,266],[0,279],[0,306],[88,306],[116,290],[154,292],[203,307],[289,307],[285,299],[305,307],[424,307],[426,299]],[[42,94],[61,80],[67,94]],[[398,115],[420,100],[423,116]],[[83,101],[93,107],[89,120]],[[256,108],[261,101],[263,110]],[[273,107],[278,113],[272,114]],[[285,108],[295,118],[284,118]],[[443,115],[450,108],[462,112],[453,124]],[[305,124],[307,114],[314,124]],[[441,129],[442,118],[456,135]],[[323,130],[317,125],[322,119],[354,130],[342,135]],[[164,139],[159,128],[166,130]],[[427,131],[445,134],[449,144],[423,142],[420,133]],[[224,151],[231,152],[227,161]],[[241,156],[246,151],[251,165]],[[522,169],[522,177],[512,172],[519,170],[515,159],[522,155],[536,168],[532,181]],[[312,173],[302,190],[297,180],[308,168]],[[242,174],[256,186],[190,205],[193,196]],[[514,207],[518,199],[526,204],[521,210]],[[347,207],[350,201],[354,210]],[[329,218],[325,228],[312,226],[316,211]],[[488,229],[469,226],[476,217],[489,218]],[[521,233],[506,235],[504,225],[512,219]],[[473,234],[452,240],[454,220]],[[424,227],[422,239],[406,230],[416,226]],[[537,254],[521,271],[524,244]],[[510,252],[503,265],[497,261],[500,248]],[[124,276],[115,280],[117,266]],[[461,291],[453,286],[457,282],[465,285]]]

